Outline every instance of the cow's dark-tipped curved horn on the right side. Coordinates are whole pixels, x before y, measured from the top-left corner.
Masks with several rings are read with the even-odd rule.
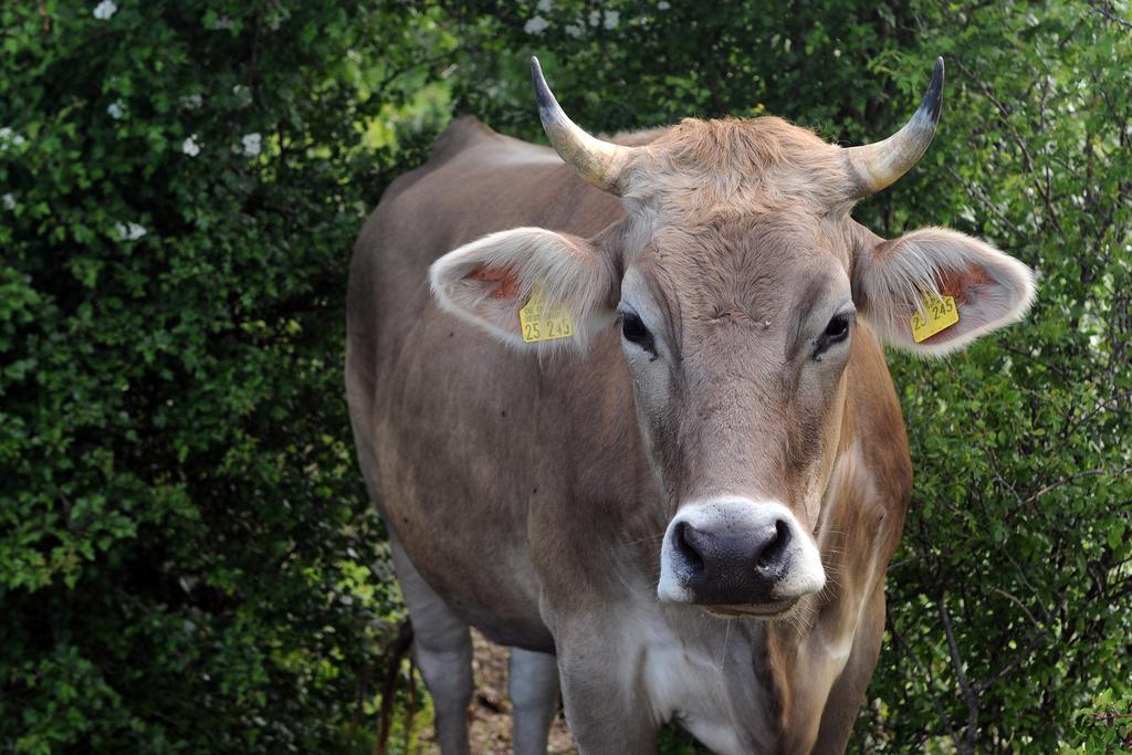
[[[891,186],[916,164],[932,144],[942,108],[943,58],[936,58],[932,84],[911,120],[884,141],[846,149],[849,164],[860,181],[858,196],[867,197]]]

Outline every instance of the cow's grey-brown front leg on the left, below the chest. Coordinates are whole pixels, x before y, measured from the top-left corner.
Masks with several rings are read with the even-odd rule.
[[[561,641],[559,641],[560,643]],[[577,649],[559,644],[566,723],[582,755],[637,755],[657,752],[657,722],[636,659],[619,653],[608,637],[591,637]]]

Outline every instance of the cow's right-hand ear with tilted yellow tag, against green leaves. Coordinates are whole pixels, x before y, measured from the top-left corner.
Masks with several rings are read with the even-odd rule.
[[[958,351],[1021,319],[1034,302],[1034,272],[978,239],[938,228],[872,238],[876,243],[855,256],[854,300],[894,346],[925,355]],[[937,297],[950,297],[954,312]]]

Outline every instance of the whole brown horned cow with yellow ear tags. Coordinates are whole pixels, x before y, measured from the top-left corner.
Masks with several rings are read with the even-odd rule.
[[[512,647],[516,753],[559,689],[582,753],[842,752],[881,647],[911,462],[882,344],[1020,319],[1022,263],[855,203],[927,149],[778,118],[554,149],[474,118],[394,181],[354,248],[346,389],[434,698],[468,752],[469,627]],[[560,685],[560,687],[559,687]]]

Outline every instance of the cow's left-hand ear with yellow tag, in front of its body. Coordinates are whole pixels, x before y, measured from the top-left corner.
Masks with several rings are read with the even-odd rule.
[[[520,348],[584,349],[614,318],[612,267],[585,239],[546,229],[466,243],[432,263],[429,282],[440,309]]]

